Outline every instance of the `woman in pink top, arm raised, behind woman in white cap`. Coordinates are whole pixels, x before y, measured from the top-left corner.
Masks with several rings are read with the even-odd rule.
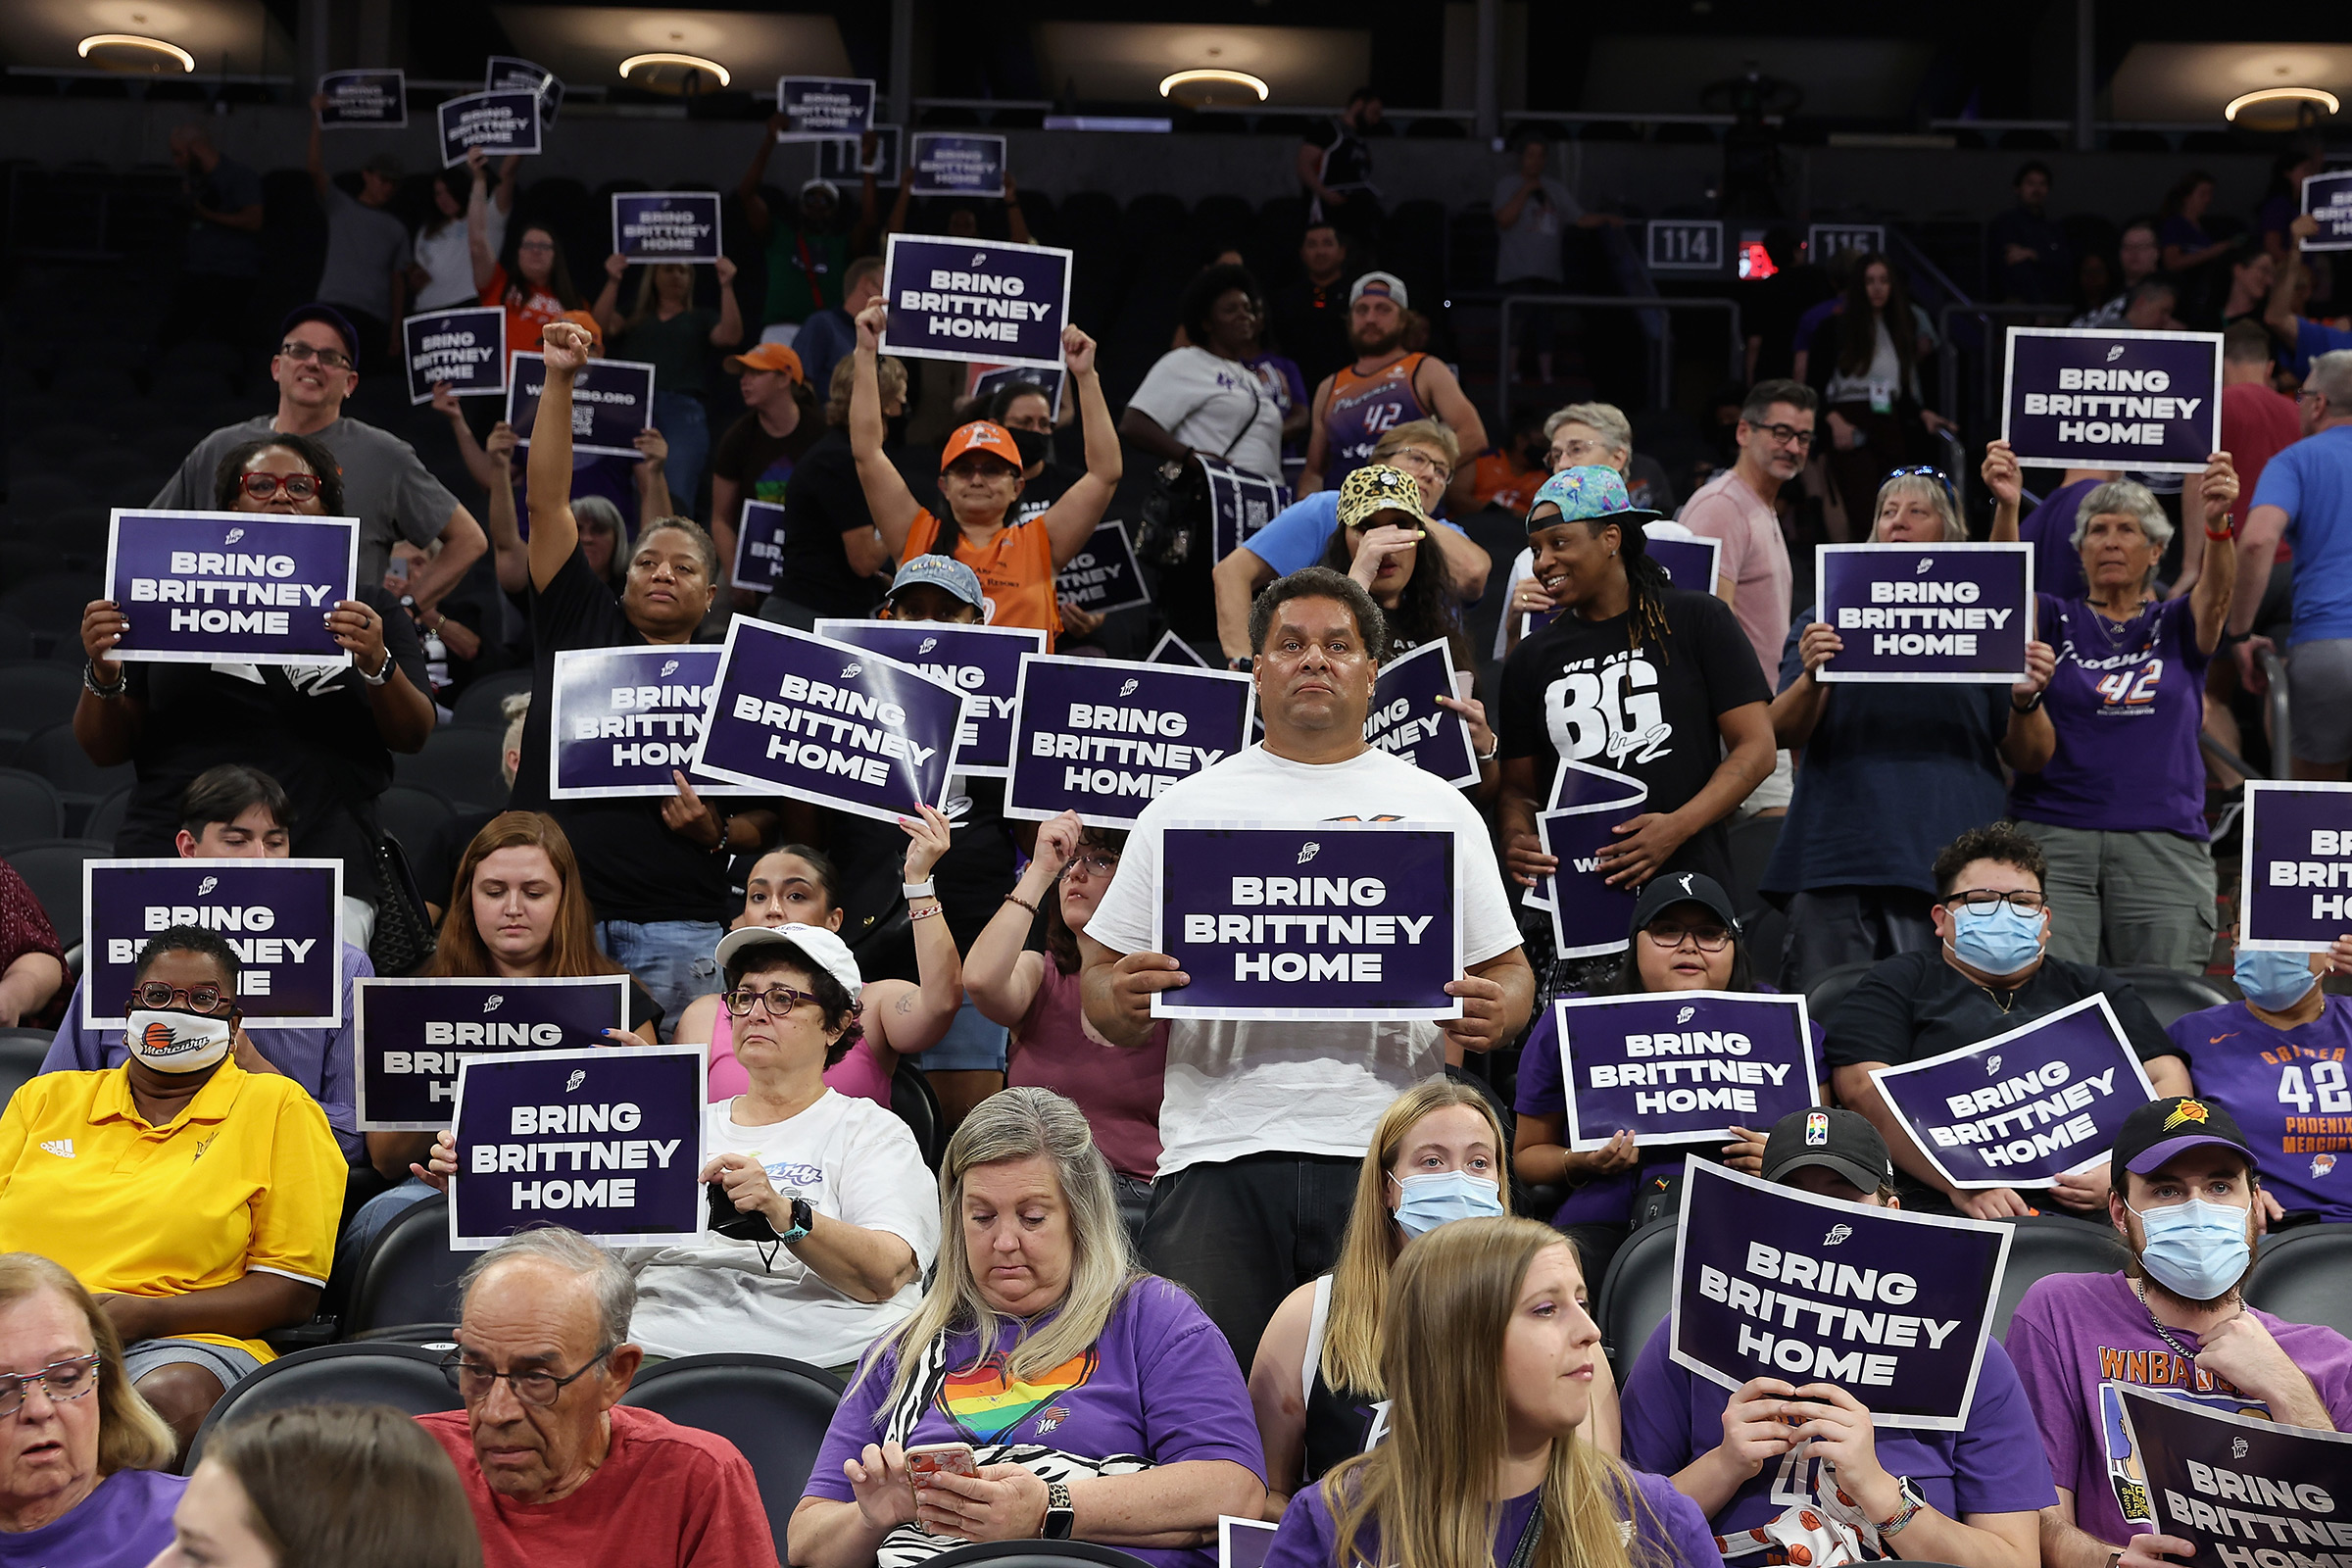
[[[948,818],[922,806],[922,820],[906,827],[906,882],[915,886],[931,877],[938,856],[948,851]],[[938,914],[938,898],[915,898],[908,907],[915,924],[915,961],[920,985],[906,980],[866,980],[856,992],[858,1034],[842,1060],[826,1067],[826,1086],[889,1110],[889,1084],[901,1056],[931,1048],[955,1009],[964,1001],[962,964],[955,938]],[[840,933],[842,900],[833,860],[807,844],[786,844],[753,860],[743,879],[743,912],[734,931],[748,926],[821,926]],[[687,1004],[677,1020],[677,1044],[710,1046],[710,1098],[731,1100],[750,1084],[734,1053],[734,1018],[724,997],[713,992]]]

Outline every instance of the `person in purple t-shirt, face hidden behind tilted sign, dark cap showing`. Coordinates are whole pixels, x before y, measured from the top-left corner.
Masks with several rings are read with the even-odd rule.
[[[1813,1117],[1828,1117],[1825,1138]],[[1780,1117],[1762,1173],[1842,1204],[1900,1206],[1886,1140],[1851,1110]],[[1672,1474],[1675,1490],[1705,1509],[1726,1561],[2042,1561],[2042,1509],[2058,1490],[1999,1340],[1985,1340],[1969,1425],[1912,1432],[1877,1427],[1835,1382],[1750,1378],[1724,1389],[1677,1366],[1670,1338],[1658,1324],[1625,1375],[1625,1462]]]

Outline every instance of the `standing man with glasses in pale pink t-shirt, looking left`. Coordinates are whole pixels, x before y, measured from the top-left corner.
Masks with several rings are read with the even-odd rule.
[[[1759,381],[1740,404],[1733,428],[1740,456],[1715,480],[1698,487],[1675,520],[1693,534],[1722,541],[1717,576],[1733,583],[1731,614],[1757,651],[1759,670],[1780,668],[1780,644],[1788,642],[1790,564],[1788,538],[1780,536],[1780,487],[1804,473],[1813,454],[1813,416],[1820,400],[1802,381]],[[1863,529],[1867,520],[1849,520]],[[1780,816],[1788,811],[1797,769],[1783,750],[1771,778],[1757,785],[1740,816]]]

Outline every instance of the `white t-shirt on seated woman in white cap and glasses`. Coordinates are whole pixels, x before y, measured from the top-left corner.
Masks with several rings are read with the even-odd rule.
[[[873,1100],[826,1091],[790,1121],[739,1126],[734,1100],[703,1117],[715,1154],[750,1154],[776,1192],[847,1225],[887,1229],[915,1248],[917,1274],[938,1255],[938,1182],[915,1135]],[[771,1253],[774,1260],[767,1260]],[[637,1316],[630,1338],[656,1356],[757,1349],[814,1366],[844,1366],[896,1328],[922,1300],[910,1281],[882,1302],[861,1302],[818,1279],[793,1248],[703,1232],[689,1246],[633,1248]]]

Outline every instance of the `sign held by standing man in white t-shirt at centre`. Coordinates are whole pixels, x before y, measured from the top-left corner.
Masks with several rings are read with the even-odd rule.
[[[1463,1016],[1451,827],[1169,823],[1157,851],[1152,950],[1192,983],[1155,992],[1152,1018]]]

